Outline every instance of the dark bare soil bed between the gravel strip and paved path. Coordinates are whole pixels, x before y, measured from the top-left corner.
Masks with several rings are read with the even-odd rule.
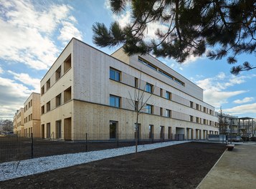
[[[0,188],[196,188],[225,150],[189,142],[0,182]]]

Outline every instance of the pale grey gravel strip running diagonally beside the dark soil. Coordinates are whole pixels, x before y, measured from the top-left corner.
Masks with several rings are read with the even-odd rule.
[[[138,145],[138,152],[153,150],[158,147],[166,147],[169,145],[177,145],[189,141],[171,141],[160,142],[150,145]],[[109,150],[99,150],[92,152],[80,152],[66,155],[53,155],[43,158],[34,158],[29,160],[20,160],[0,164],[0,181],[12,178],[20,178],[27,175],[43,173],[49,170],[67,168],[73,165],[89,163],[105,158],[113,158],[119,155],[126,155],[135,152],[135,147],[120,147]]]

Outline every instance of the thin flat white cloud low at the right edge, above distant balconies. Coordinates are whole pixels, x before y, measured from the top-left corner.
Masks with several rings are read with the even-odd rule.
[[[229,115],[256,114],[256,103],[224,109],[223,112],[227,112]]]

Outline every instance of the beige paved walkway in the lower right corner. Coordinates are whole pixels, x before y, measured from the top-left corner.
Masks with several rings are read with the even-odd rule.
[[[235,143],[232,151],[225,151],[197,189],[255,188],[256,143]]]

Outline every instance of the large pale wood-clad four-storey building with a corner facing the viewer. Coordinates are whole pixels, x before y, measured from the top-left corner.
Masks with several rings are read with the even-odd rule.
[[[138,91],[149,98],[138,117],[140,139],[218,134],[214,107],[189,79],[149,54],[108,55],[73,38],[41,80],[42,137],[134,139]]]

